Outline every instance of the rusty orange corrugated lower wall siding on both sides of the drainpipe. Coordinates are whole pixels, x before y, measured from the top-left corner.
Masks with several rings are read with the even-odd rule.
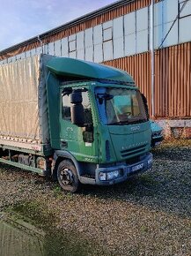
[[[129,72],[146,95],[151,109],[151,54],[107,61]],[[155,52],[156,117],[191,117],[191,42]]]

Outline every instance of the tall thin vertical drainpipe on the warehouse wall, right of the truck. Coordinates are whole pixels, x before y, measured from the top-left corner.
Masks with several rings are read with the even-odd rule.
[[[151,117],[155,117],[154,0],[151,0]]]

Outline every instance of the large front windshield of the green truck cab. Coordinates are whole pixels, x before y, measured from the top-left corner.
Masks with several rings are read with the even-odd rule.
[[[97,87],[95,94],[99,116],[104,124],[136,124],[147,121],[139,91],[126,88]]]

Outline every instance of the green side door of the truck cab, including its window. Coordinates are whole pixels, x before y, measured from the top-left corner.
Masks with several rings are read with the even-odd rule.
[[[82,92],[84,106],[84,127],[78,127],[71,123],[70,94],[62,94],[60,111],[60,147],[69,151],[78,161],[97,162],[97,144],[94,139],[92,120],[92,106],[89,100],[88,91]]]

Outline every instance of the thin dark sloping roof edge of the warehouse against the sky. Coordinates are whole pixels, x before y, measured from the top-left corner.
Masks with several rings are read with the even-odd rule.
[[[4,54],[6,54],[10,51],[13,51],[15,49],[18,49],[20,47],[24,47],[28,44],[31,44],[35,41],[43,40],[43,39],[47,38],[49,35],[59,33],[64,29],[70,28],[71,26],[76,26],[77,24],[82,23],[82,22],[84,22],[88,19],[93,19],[93,18],[98,17],[99,15],[101,15],[103,13],[106,13],[107,11],[112,11],[117,7],[121,7],[125,4],[129,4],[130,2],[135,2],[135,1],[136,0],[121,0],[121,1],[114,2],[114,4],[108,4],[107,6],[105,6],[103,8],[100,8],[96,11],[89,12],[89,13],[85,14],[84,16],[81,16],[77,19],[73,19],[70,22],[67,22],[67,23],[63,24],[62,26],[57,26],[57,27],[55,27],[51,30],[48,30],[47,32],[45,32],[43,34],[39,34],[39,35],[34,36],[33,38],[30,38],[26,41],[22,41],[18,44],[15,44],[15,45],[7,48],[7,49],[3,49],[2,51],[0,51],[0,56],[4,55]]]

